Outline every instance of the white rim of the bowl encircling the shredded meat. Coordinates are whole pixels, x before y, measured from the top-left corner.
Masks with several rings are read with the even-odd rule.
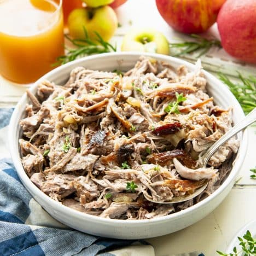
[[[139,53],[139,52],[129,52],[129,53],[123,53],[123,52],[118,52],[118,53],[104,53],[104,54],[98,54],[98,55],[92,55],[92,56],[86,56],[78,60],[74,60],[72,62],[68,62],[65,65],[62,65],[60,67],[57,67],[53,69],[52,71],[46,73],[43,75],[43,77],[39,78],[31,87],[29,90],[35,90],[36,87],[40,82],[42,82],[45,79],[48,79],[48,77],[51,77],[54,74],[59,73],[62,71],[62,69],[66,69],[71,66],[78,66],[84,65],[84,62],[90,62],[90,60],[101,60],[106,57],[119,57],[120,59],[124,59],[126,56],[133,56],[137,57],[139,59],[140,56],[147,56],[147,57],[153,57],[156,60],[164,60],[167,62],[174,62],[176,65],[185,65],[188,67],[189,70],[194,70],[195,65],[192,63],[189,63],[187,61],[178,59],[176,57],[168,56],[168,55],[162,55],[162,54],[153,54],[153,53]],[[243,113],[243,110],[236,100],[235,96],[230,92],[230,90],[214,75],[211,73],[202,70],[202,72],[206,75],[207,78],[210,78],[211,80],[214,81],[214,83],[218,84],[222,88],[222,92],[225,94],[229,95],[229,98],[232,98],[232,103],[234,103],[234,109],[236,112],[238,112],[239,115],[241,115],[241,118],[245,117],[245,114]],[[77,210],[74,210],[72,208],[69,208],[65,205],[62,205],[62,203],[57,202],[53,199],[51,199],[48,195],[44,194],[43,191],[41,191],[34,183],[31,182],[30,178],[27,176],[22,164],[21,164],[21,159],[19,152],[15,151],[15,144],[18,143],[17,138],[15,137],[16,131],[18,130],[18,126],[15,127],[15,121],[19,116],[20,110],[24,110],[24,103],[27,101],[27,96],[26,93],[20,98],[18,104],[16,105],[13,114],[11,115],[10,119],[10,124],[9,124],[9,133],[8,133],[8,139],[9,139],[9,149],[10,149],[10,154],[11,158],[13,159],[14,166],[16,168],[16,171],[21,179],[21,182],[25,185],[27,190],[29,190],[30,194],[34,199],[37,198],[42,199],[45,203],[47,203],[49,206],[53,207],[54,210],[60,211],[60,212],[66,212],[68,216],[75,216],[79,219],[86,219],[86,220],[91,220],[92,222],[97,222],[101,224],[147,224],[147,223],[161,223],[161,222],[166,222],[170,219],[179,219],[183,218],[184,216],[189,215],[191,212],[194,212],[196,210],[199,210],[202,206],[208,205],[211,200],[216,198],[219,194],[222,194],[223,191],[225,190],[226,187],[230,183],[235,182],[235,178],[238,174],[238,171],[243,164],[243,161],[245,160],[246,156],[246,151],[247,151],[247,144],[248,144],[248,134],[247,131],[241,132],[241,140],[240,140],[240,147],[238,148],[237,156],[234,161],[234,165],[232,166],[231,172],[229,176],[225,179],[225,181],[220,185],[218,189],[216,189],[210,196],[207,196],[205,199],[203,199],[200,202],[197,202],[195,205],[190,206],[186,208],[185,210],[179,211],[179,212],[174,212],[172,214],[168,214],[167,216],[162,216],[158,218],[153,218],[153,219],[141,219],[141,220],[120,220],[120,219],[107,219],[99,216],[92,216],[91,214],[84,213],[84,212],[79,212]]]

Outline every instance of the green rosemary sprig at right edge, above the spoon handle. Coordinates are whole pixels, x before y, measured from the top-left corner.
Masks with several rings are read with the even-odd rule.
[[[240,82],[237,83],[231,82],[223,73],[219,73],[219,78],[229,87],[232,94],[234,94],[243,112],[248,114],[256,107],[256,77],[249,76],[245,78],[239,72],[237,73],[240,79]]]

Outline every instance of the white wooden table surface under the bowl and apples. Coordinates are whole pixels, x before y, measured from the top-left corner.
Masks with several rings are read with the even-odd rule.
[[[118,28],[112,42],[120,46],[121,38],[132,27],[155,28],[165,34],[168,40],[175,42],[188,39],[183,34],[174,32],[161,18],[154,0],[129,0],[117,9],[118,19],[122,25]],[[219,37],[217,26],[206,33]],[[185,60],[193,62],[195,56],[188,55]],[[256,74],[256,66],[248,65],[233,59],[224,50],[211,50],[202,58],[203,66],[210,72],[222,71],[235,75],[236,71]],[[15,106],[26,86],[9,83],[0,76],[0,107]],[[248,128],[248,151],[245,162],[238,174],[241,179],[234,185],[230,194],[200,222],[170,235],[148,239],[156,255],[171,255],[191,251],[201,251],[205,255],[216,255],[216,250],[225,251],[236,232],[253,219],[256,219],[256,181],[249,178],[250,168],[256,166],[256,126]],[[0,139],[1,143],[1,139]],[[0,150],[0,157],[4,156]]]

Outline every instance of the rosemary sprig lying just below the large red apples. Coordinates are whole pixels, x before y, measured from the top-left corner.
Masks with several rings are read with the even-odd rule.
[[[179,49],[178,53],[173,54],[172,56],[181,56],[184,54],[194,53],[196,51],[199,52],[199,55],[196,57],[200,57],[206,54],[213,46],[217,46],[218,48],[222,48],[220,40],[213,38],[207,39],[199,36],[198,34],[191,34],[191,38],[194,38],[193,41],[183,42],[183,43],[170,43],[171,48]]]

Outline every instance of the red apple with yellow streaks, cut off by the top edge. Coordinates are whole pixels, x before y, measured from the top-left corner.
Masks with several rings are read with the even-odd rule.
[[[225,0],[156,0],[162,18],[183,33],[206,31],[217,19]]]

